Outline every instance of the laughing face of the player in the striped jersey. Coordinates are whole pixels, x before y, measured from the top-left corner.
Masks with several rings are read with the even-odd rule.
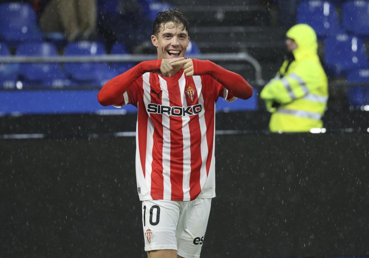
[[[158,49],[158,59],[184,57],[190,43],[190,37],[182,23],[162,24],[157,35],[151,36],[151,42]]]

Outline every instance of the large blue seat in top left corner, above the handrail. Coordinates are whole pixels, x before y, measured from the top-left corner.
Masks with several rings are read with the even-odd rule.
[[[37,18],[29,4],[0,4],[0,36],[12,44],[41,41],[44,36],[37,26]]]

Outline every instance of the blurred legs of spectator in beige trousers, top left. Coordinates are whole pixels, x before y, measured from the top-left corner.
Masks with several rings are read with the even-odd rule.
[[[44,32],[64,32],[68,42],[96,38],[96,0],[41,1],[39,25]]]

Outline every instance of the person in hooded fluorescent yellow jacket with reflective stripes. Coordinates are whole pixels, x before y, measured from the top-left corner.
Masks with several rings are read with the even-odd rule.
[[[272,112],[271,132],[309,132],[322,128],[327,107],[328,79],[320,63],[317,36],[307,24],[286,33],[287,58],[260,97]]]

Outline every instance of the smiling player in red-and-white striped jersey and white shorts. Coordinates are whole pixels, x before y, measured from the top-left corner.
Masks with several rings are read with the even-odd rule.
[[[158,59],[111,79],[97,98],[138,109],[136,178],[148,257],[200,257],[215,197],[215,103],[248,99],[252,87],[208,60],[184,58],[189,22],[179,10],[158,13],[153,32]]]

